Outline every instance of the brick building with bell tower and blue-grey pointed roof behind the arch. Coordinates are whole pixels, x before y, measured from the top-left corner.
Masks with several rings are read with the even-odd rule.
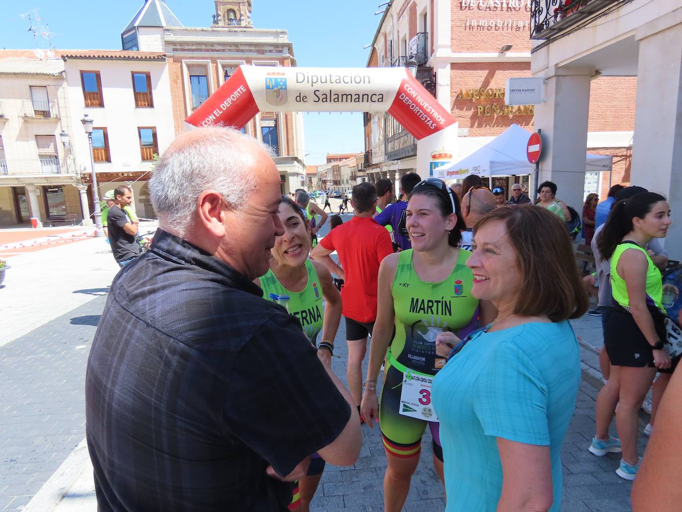
[[[166,53],[175,134],[240,64],[296,66],[285,30],[254,28],[251,0],[214,4],[210,27],[183,27],[162,0],[147,0],[121,33],[124,49]],[[243,131],[272,148],[282,193],[306,185],[302,113],[261,112]]]

